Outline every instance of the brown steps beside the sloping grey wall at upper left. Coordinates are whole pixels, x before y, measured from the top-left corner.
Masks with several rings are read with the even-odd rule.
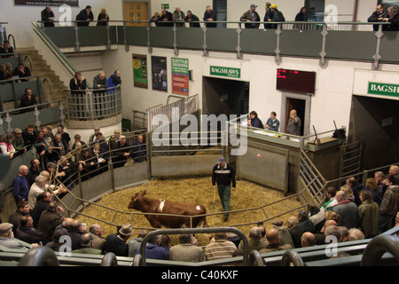
[[[64,90],[68,89],[68,87],[61,80],[59,80],[59,76],[55,74],[55,72],[47,64],[46,60],[43,59],[42,55],[40,55],[39,52],[33,48],[19,49],[18,51],[22,52],[23,59],[28,56],[32,60],[32,75],[42,76],[41,82],[43,85],[43,92],[45,92],[46,95],[46,101],[51,102],[65,99],[66,96]],[[25,64],[30,68],[29,59],[25,60]],[[44,79],[50,80],[51,90],[49,83],[43,83]]]

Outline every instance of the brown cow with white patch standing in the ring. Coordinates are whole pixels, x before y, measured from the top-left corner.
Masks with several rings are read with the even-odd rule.
[[[164,213],[173,215],[195,216],[206,214],[207,209],[202,205],[180,203],[176,201],[160,201],[156,199],[144,197],[146,191],[135,193],[131,198],[128,208],[137,209],[143,213]],[[154,228],[160,228],[162,225],[169,228],[181,228],[182,226],[190,227],[190,217],[175,217],[162,215],[145,215],[148,222]],[[207,218],[193,217],[192,227],[207,226]]]

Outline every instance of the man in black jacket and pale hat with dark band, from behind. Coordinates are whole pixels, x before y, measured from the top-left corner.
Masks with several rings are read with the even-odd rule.
[[[130,224],[121,225],[118,234],[110,233],[106,237],[105,251],[113,252],[115,256],[129,256],[129,244],[128,240],[133,233],[133,228]]]

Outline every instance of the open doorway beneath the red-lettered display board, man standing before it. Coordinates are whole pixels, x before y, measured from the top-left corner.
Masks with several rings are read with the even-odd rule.
[[[294,93],[283,93],[280,125],[281,132],[286,132],[291,110],[295,109],[301,118],[301,136],[309,135],[310,122],[310,96],[297,95]]]

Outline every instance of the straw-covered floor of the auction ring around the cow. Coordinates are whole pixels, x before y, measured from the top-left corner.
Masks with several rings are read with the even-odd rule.
[[[301,208],[301,202],[297,201],[296,198],[286,198],[278,190],[241,179],[237,181],[236,190],[231,192],[232,212],[228,221],[223,222],[223,208],[217,190],[214,205],[214,189],[211,177],[170,177],[157,178],[142,185],[132,186],[114,193],[106,193],[96,202],[101,206],[87,206],[76,218],[88,226],[95,223],[101,225],[104,237],[110,233],[116,233],[115,225],[110,225],[110,223],[117,225],[129,223],[135,228],[132,237],[136,237],[139,228],[153,229],[143,213],[135,209],[128,209],[131,197],[143,190],[146,191],[145,196],[152,199],[204,205],[207,214],[211,214],[207,216],[208,226],[236,226],[246,235],[249,229],[259,221],[270,217],[279,217],[286,221],[288,217],[296,216],[297,209]],[[238,211],[234,212],[236,210]],[[285,214],[290,210],[292,211]],[[92,217],[96,217],[96,219]],[[266,222],[264,225],[268,228],[270,222]],[[172,236],[170,237],[172,239]],[[197,239],[199,245],[207,245],[206,237],[204,239],[197,237]]]

